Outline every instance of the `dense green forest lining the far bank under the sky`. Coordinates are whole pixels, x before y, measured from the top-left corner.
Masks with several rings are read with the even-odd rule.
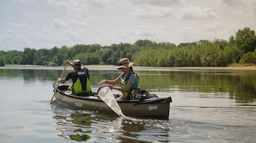
[[[0,66],[5,64],[63,65],[66,59],[80,59],[83,64],[115,65],[128,57],[137,66],[228,66],[234,63],[256,64],[255,31],[245,27],[226,40],[200,40],[175,45],[169,42],[138,40],[134,44],[110,46],[78,44],[52,49],[24,48],[23,51],[0,51]]]

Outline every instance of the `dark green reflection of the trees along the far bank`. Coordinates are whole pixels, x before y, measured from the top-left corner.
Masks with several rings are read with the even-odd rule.
[[[55,81],[62,70],[0,69],[0,78],[23,78],[25,81]],[[202,93],[228,93],[238,103],[256,101],[256,72],[241,71],[169,71],[138,72],[142,88],[151,91],[177,91]],[[118,71],[91,71],[91,82],[114,79]]]

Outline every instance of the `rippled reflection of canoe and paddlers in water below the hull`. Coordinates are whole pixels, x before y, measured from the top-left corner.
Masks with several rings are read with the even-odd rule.
[[[60,103],[52,105],[58,136],[91,142],[168,142],[171,121],[125,119],[97,112],[76,110]]]

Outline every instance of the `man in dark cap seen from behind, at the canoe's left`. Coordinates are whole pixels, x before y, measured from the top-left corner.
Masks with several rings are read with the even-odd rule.
[[[65,65],[71,65],[74,71],[70,72],[65,78],[60,78],[60,83],[65,83],[71,79],[73,84],[71,86],[72,93],[78,96],[88,96],[92,92],[90,84],[89,70],[86,67],[81,67],[81,61],[76,59],[73,62],[65,61]]]

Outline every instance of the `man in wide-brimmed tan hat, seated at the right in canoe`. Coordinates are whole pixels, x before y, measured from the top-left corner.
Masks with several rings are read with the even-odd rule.
[[[128,58],[120,59],[118,63],[117,69],[122,73],[114,80],[102,80],[99,84],[109,84],[111,89],[121,91],[123,93],[121,99],[134,99],[139,85],[139,77],[132,68],[134,63],[130,62]],[[116,85],[120,86],[115,87]]]

